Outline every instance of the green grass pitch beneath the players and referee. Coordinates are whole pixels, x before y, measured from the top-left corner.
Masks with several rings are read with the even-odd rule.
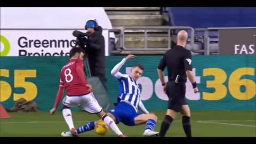
[[[155,131],[159,131],[164,111],[152,111],[158,116]],[[61,137],[68,126],[62,113],[50,115],[46,112],[9,113],[11,118],[0,119],[0,137]],[[99,118],[96,115],[78,111],[73,113],[75,127]],[[127,137],[142,137],[145,125],[125,126],[118,124]],[[256,111],[191,111],[191,130],[193,137],[256,137]],[[110,129],[104,135],[94,131],[85,132],[79,137],[117,137]],[[185,137],[181,115],[178,114],[170,126],[166,137]]]

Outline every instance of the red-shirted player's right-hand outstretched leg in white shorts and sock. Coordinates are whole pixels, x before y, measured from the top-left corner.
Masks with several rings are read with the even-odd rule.
[[[92,92],[89,93],[87,97],[83,97],[83,99],[87,104],[84,107],[85,111],[92,114],[97,114],[99,118],[101,118],[102,121],[104,121],[119,137],[123,137],[124,134],[119,130],[115,121],[111,117],[109,117],[104,111],[102,111],[102,108],[100,107]]]

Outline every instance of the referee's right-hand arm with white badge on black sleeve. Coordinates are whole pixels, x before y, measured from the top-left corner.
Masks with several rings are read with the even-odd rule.
[[[194,73],[192,71],[192,55],[191,55],[191,52],[188,52],[186,54],[185,58],[183,59],[183,62],[184,62],[185,70],[186,70],[186,75],[187,75],[189,81],[191,82],[191,84],[193,85],[193,89],[196,89],[197,85],[196,85],[196,81],[195,81],[195,78],[194,78]]]

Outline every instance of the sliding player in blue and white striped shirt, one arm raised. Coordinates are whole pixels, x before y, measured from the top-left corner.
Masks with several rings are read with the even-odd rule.
[[[144,68],[140,65],[134,65],[131,74],[120,73],[119,69],[124,63],[134,58],[135,55],[127,55],[126,58],[122,59],[112,70],[111,75],[115,76],[119,82],[119,95],[117,97],[117,105],[114,109],[110,110],[107,115],[113,118],[116,124],[122,122],[127,126],[146,124],[145,131],[142,134],[145,137],[151,137],[158,134],[153,131],[155,129],[157,116],[153,113],[149,113],[140,100],[140,87],[136,82],[141,77]],[[143,111],[139,113],[139,109]],[[101,120],[99,120],[101,121]],[[94,129],[94,125],[97,125],[99,121],[89,122],[84,126],[77,129],[77,133],[83,133]],[[63,137],[70,137],[70,132],[62,132]]]

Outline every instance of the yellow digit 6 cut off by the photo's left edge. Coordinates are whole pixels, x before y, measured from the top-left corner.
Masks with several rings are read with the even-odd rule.
[[[0,76],[9,77],[9,70],[8,69],[0,69]],[[0,102],[6,101],[11,97],[12,94],[12,87],[9,83],[5,81],[0,81]]]

